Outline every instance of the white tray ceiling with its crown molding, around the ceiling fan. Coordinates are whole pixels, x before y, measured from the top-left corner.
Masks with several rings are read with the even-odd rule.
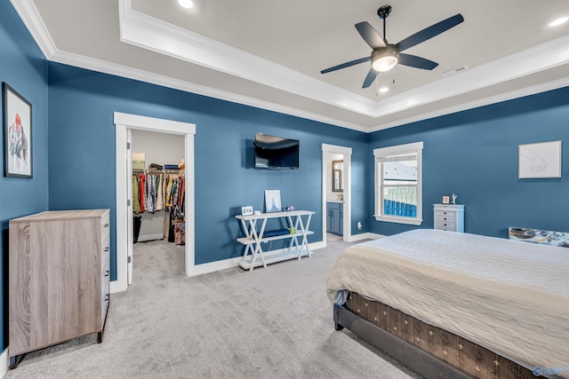
[[[567,0],[11,1],[47,59],[366,132],[569,85],[569,22],[548,26]],[[389,43],[461,13],[405,51],[438,67],[321,75],[371,53],[354,25],[382,35],[384,4]]]

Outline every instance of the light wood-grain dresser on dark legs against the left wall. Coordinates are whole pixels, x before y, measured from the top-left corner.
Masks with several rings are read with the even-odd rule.
[[[109,303],[110,211],[48,211],[10,221],[10,367],[21,354],[98,333]]]

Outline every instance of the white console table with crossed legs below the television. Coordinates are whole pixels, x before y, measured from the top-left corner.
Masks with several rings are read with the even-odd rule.
[[[243,225],[245,232],[245,237],[237,238],[237,242],[244,244],[246,247],[243,259],[239,262],[239,265],[245,270],[252,271],[253,267],[260,265],[267,268],[268,264],[287,259],[301,259],[303,256],[312,257],[307,236],[314,234],[314,232],[309,231],[310,219],[314,213],[315,212],[310,210],[293,210],[290,212],[261,213],[260,215],[251,216],[237,215],[236,218],[241,220],[241,225]],[[302,216],[306,216],[306,222],[302,220]],[[269,218],[284,218],[288,227],[296,229],[297,233],[264,237],[265,226]],[[257,232],[257,220],[261,220],[259,232]],[[272,253],[268,251],[265,253],[260,247],[261,242],[284,240],[287,238],[290,238],[291,241],[288,249],[284,249],[282,252]],[[301,238],[300,244],[299,238]],[[250,251],[251,256],[249,256]],[[261,262],[257,262],[258,256],[260,256]]]

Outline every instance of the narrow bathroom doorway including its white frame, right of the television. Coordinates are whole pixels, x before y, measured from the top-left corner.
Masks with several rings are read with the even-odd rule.
[[[322,144],[323,240],[351,237],[351,147]]]

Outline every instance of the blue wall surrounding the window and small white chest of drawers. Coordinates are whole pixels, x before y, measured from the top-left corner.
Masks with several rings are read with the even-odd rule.
[[[569,231],[569,88],[449,114],[373,133],[373,148],[424,141],[423,228],[433,227],[432,204],[458,194],[465,232],[508,237],[508,227]],[[562,178],[518,179],[517,146],[562,140]],[[373,183],[367,195],[373,213]],[[394,234],[413,226],[378,222],[371,232]]]

